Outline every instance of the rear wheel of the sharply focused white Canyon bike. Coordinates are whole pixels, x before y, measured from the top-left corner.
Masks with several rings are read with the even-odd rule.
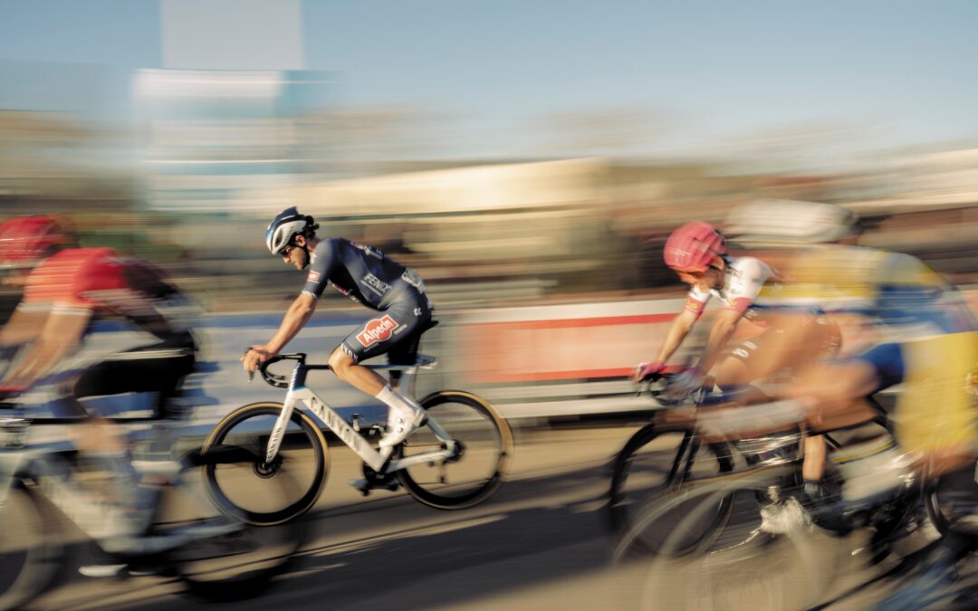
[[[429,420],[459,444],[460,452],[401,469],[401,484],[412,497],[438,509],[460,509],[488,499],[503,483],[512,457],[510,425],[488,402],[463,391],[430,394],[421,406]],[[398,447],[396,458],[445,447],[425,424]]]

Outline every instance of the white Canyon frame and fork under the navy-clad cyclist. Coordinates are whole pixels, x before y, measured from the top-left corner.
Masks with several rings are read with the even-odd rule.
[[[420,357],[419,363],[411,366],[372,366],[371,369],[402,370],[406,373],[406,375],[411,376],[413,383],[414,374],[418,371],[418,368],[423,367],[425,363],[428,362],[423,361]],[[445,432],[444,429],[438,426],[438,423],[431,417],[428,417],[427,419],[427,426],[445,445],[444,449],[399,459],[390,458],[391,454],[393,453],[393,448],[387,448],[381,452],[374,450],[374,448],[371,447],[370,443],[364,439],[362,435],[360,435],[349,423],[347,423],[345,419],[336,414],[333,408],[323,401],[319,395],[317,395],[311,388],[306,386],[305,378],[309,371],[323,371],[329,369],[329,365],[305,365],[301,362],[295,365],[295,369],[292,371],[291,380],[289,381],[289,391],[286,394],[286,400],[283,404],[282,413],[276,420],[275,426],[272,428],[272,433],[268,440],[268,448],[265,453],[266,463],[271,463],[272,460],[278,456],[286,427],[289,425],[289,418],[291,417],[292,410],[295,409],[296,405],[304,405],[306,409],[308,409],[324,424],[326,424],[326,426],[333,431],[333,434],[335,434],[340,441],[346,444],[350,450],[355,452],[357,456],[359,456],[368,466],[378,473],[392,473],[416,464],[432,462],[439,459],[448,459],[456,456],[458,452],[458,444],[448,433]]]

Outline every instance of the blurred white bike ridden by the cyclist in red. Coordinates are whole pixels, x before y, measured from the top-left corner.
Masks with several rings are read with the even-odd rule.
[[[200,467],[236,460],[236,450],[200,451],[169,460],[133,461],[160,485],[153,523],[135,539],[123,525],[133,509],[113,500],[105,474],[84,468],[68,441],[45,441],[49,425],[79,418],[31,418],[21,404],[0,402],[0,609],[20,607],[49,588],[73,554],[74,524],[127,571],[175,578],[189,593],[213,600],[253,596],[289,570],[307,526],[257,528],[217,509],[202,490]],[[149,418],[126,418],[127,420]],[[158,424],[157,424],[158,426]],[[101,480],[101,481],[100,481]],[[285,483],[285,480],[281,482]]]

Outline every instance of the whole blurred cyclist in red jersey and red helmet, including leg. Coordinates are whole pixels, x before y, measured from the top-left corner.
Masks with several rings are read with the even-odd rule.
[[[55,415],[79,418],[72,432],[82,462],[109,473],[114,502],[135,509],[132,524],[120,527],[114,545],[124,551],[149,525],[156,494],[140,492],[140,475],[117,426],[103,417],[105,406],[80,400],[152,392],[156,418],[177,419],[182,414],[171,399],[194,371],[197,347],[190,329],[167,315],[185,302],[162,271],[111,248],[65,248],[66,242],[49,216],[16,217],[0,225],[4,282],[23,286],[21,302],[0,330],[0,349],[9,358],[0,390],[50,389],[59,397],[52,406]],[[93,365],[86,341],[93,324],[110,320],[133,331],[136,345],[98,357]],[[169,448],[160,447],[169,443],[167,428],[155,427],[151,451],[168,456]]]

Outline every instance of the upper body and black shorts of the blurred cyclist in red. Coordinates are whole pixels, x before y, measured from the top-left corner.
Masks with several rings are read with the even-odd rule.
[[[51,238],[57,231],[50,217],[20,217],[0,227],[0,258],[20,269],[13,284],[24,283],[22,300],[0,332],[0,345],[30,343],[4,375],[3,384],[26,387],[42,380],[78,351],[92,323],[121,320],[141,331],[144,343],[88,368],[73,384],[72,395],[153,391],[160,394],[156,415],[168,416],[167,399],[180,379],[193,371],[196,360],[190,329],[166,315],[169,307],[183,301],[182,295],[152,264],[121,257],[111,248],[47,252],[61,243]],[[45,254],[50,256],[42,258]],[[67,411],[85,414],[78,406]]]

